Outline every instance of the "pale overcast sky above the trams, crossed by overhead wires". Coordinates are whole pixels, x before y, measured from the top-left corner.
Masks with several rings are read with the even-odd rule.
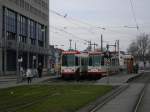
[[[83,50],[87,47],[83,40],[100,46],[103,34],[104,45],[119,39],[120,49],[126,50],[140,32],[149,33],[150,28],[150,0],[132,1],[140,31],[124,27],[136,26],[130,0],[50,0],[50,44],[68,49],[72,39],[72,47],[77,42],[77,48]]]

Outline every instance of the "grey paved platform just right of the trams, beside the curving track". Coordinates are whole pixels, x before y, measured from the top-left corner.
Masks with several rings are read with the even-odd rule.
[[[127,81],[131,80],[132,78],[135,78],[139,76],[139,74],[126,74],[126,73],[119,73],[117,75],[111,75],[107,77],[103,77],[99,79],[95,84],[96,85],[121,85],[124,83],[127,83]]]

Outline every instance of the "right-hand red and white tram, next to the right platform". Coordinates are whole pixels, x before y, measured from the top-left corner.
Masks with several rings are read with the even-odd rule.
[[[100,78],[119,71],[116,52],[89,52],[88,77]]]

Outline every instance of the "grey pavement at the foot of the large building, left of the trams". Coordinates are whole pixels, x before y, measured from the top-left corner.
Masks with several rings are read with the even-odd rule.
[[[48,79],[57,78],[58,76],[43,76],[41,78],[33,78],[31,84],[37,84]],[[17,83],[16,76],[0,76],[0,88],[15,87],[20,85],[28,85],[27,80]]]

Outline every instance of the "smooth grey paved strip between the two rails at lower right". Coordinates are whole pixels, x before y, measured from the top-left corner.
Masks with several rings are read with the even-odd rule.
[[[124,92],[106,103],[96,112],[133,112],[139,93],[144,84],[132,84]]]

